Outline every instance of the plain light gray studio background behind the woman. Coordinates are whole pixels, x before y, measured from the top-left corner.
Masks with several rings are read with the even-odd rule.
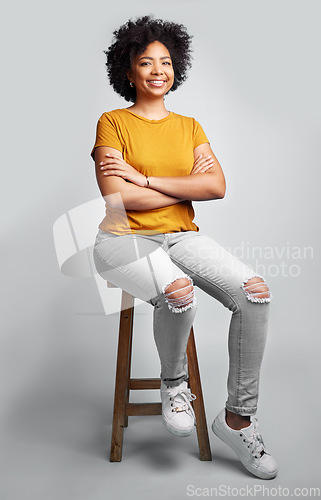
[[[319,6],[57,0],[5,7],[1,499],[180,499],[187,485],[264,484],[291,493],[320,486]],[[213,462],[200,462],[196,436],[171,436],[159,417],[132,417],[123,462],[108,461],[118,317],[104,314],[93,279],[60,273],[52,228],[99,196],[89,157],[96,122],[129,105],[109,88],[102,51],[114,29],[149,13],[194,35],[189,79],[166,106],[202,124],[227,179],[225,199],[195,203],[195,220],[252,266],[255,256],[237,249],[264,251],[258,270],[274,297],[258,418],[279,463],[270,482],[247,474],[212,433]],[[305,247],[312,256],[304,257]],[[201,291],[198,299],[210,424],[226,399],[230,313]],[[137,309],[136,376],[159,374],[151,313],[148,305]]]

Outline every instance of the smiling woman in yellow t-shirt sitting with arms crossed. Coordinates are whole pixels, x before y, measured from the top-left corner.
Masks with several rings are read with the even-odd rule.
[[[260,478],[277,466],[257,433],[258,381],[271,294],[261,276],[193,222],[193,200],[225,195],[225,179],[194,119],[168,111],[164,97],[186,79],[191,37],[182,25],[129,21],[105,52],[114,90],[134,104],[104,113],[92,157],[106,217],[94,258],[105,279],[154,306],[161,362],[162,418],[175,435],[194,427],[186,347],[196,313],[194,284],[232,312],[228,399],[214,433]]]

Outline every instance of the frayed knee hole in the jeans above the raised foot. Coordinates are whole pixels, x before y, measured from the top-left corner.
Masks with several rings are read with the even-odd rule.
[[[195,304],[193,281],[190,277],[173,280],[164,289],[165,301],[173,312],[184,312]]]

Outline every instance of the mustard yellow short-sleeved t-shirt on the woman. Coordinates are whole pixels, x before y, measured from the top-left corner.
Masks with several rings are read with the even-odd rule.
[[[144,175],[155,177],[190,175],[193,150],[209,142],[194,119],[170,112],[161,120],[149,120],[129,109],[103,113],[97,124],[97,146],[118,149],[126,163]],[[102,231],[115,234],[155,234],[198,231],[190,201],[151,210],[115,210],[106,203]]]

